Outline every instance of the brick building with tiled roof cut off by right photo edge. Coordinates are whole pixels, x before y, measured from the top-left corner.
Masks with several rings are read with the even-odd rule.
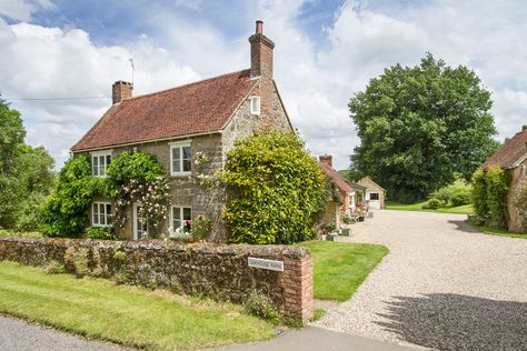
[[[508,230],[527,232],[527,228],[521,225],[520,211],[515,201],[520,187],[527,187],[527,129],[517,132],[513,139],[505,142],[505,144],[481,166],[484,170],[488,170],[493,167],[499,167],[505,170],[509,179],[509,190],[507,194]]]

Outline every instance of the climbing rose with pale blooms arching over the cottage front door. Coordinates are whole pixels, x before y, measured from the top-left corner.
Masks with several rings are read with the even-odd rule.
[[[125,228],[127,209],[140,203],[149,235],[159,233],[171,201],[169,180],[156,158],[145,152],[123,152],[107,169],[109,192],[116,201],[113,228]]]

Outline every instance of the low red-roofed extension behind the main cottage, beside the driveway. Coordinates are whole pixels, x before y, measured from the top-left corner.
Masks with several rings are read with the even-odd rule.
[[[331,179],[332,183],[338,190],[340,201],[329,200],[326,211],[324,213],[324,223],[335,223],[337,229],[340,228],[341,217],[351,217],[357,208],[360,207],[365,188],[355,184],[344,178],[332,166],[332,156],[324,154],[319,157],[319,166],[326,177]]]

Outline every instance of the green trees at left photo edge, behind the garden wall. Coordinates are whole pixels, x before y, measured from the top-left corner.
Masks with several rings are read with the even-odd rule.
[[[53,159],[43,148],[24,144],[24,136],[20,113],[0,99],[0,228],[32,231],[53,185]]]

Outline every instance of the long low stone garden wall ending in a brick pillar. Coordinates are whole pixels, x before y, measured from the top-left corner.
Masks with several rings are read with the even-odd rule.
[[[284,272],[250,268],[249,257],[282,261]],[[82,258],[83,272],[76,265]],[[311,255],[301,247],[0,238],[0,260],[37,267],[57,261],[86,275],[233,302],[258,290],[286,317],[307,322],[314,313]]]

